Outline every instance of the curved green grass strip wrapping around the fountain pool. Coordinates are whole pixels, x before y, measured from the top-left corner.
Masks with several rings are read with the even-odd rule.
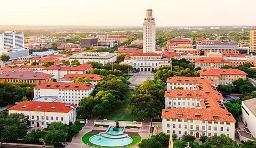
[[[96,135],[96,134],[92,134],[92,133],[87,133],[87,134],[85,134],[85,135],[82,137],[83,143],[84,143],[84,144],[91,145],[91,146],[95,146],[95,147],[109,148],[108,146],[100,146],[100,145],[94,145],[94,144],[92,144],[92,143],[89,141],[89,139],[90,139],[90,137],[93,136],[93,135]],[[140,136],[131,136],[131,138],[132,138],[132,143],[129,144],[129,145],[127,145],[127,147],[133,147],[133,146],[139,144],[140,141],[141,141],[141,137],[140,137]],[[115,147],[115,148],[122,148],[122,146],[117,146],[117,147]]]

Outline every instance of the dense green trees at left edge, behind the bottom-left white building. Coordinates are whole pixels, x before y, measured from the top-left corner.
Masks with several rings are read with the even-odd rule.
[[[34,86],[35,84],[27,83],[0,83],[0,106],[20,102],[23,96],[26,96],[28,100],[32,100]]]

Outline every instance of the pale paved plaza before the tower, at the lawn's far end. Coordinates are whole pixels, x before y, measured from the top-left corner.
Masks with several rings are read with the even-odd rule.
[[[128,80],[131,85],[130,88],[135,88],[138,85],[142,84],[143,81],[146,80],[153,80],[154,79],[154,73],[151,73],[149,71],[141,71],[138,73],[134,73],[133,76]]]

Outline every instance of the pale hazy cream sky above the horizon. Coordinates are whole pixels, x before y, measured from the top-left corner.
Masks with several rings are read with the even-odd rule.
[[[0,0],[0,25],[256,25],[255,0]]]

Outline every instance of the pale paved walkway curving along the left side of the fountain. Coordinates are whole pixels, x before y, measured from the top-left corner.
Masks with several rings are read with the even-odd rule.
[[[94,126],[94,120],[88,120],[89,122],[83,127],[83,129],[78,133],[76,134],[71,143],[68,143],[66,145],[67,148],[84,148],[84,147],[92,147],[92,146],[89,146],[89,145],[86,145],[82,142],[82,137],[84,134],[86,133],[89,133],[90,131],[92,131],[93,129],[93,126]]]

